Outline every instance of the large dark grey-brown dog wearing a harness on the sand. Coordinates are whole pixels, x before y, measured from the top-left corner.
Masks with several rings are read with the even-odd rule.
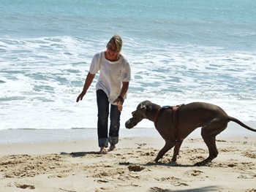
[[[159,151],[155,161],[167,153],[173,146],[173,158],[176,162],[178,151],[183,140],[195,130],[202,127],[201,135],[208,147],[209,156],[198,162],[195,166],[203,166],[211,162],[218,155],[215,138],[217,134],[227,128],[227,123],[234,121],[240,126],[255,131],[236,118],[232,118],[222,108],[203,102],[195,102],[178,107],[160,107],[151,101],[143,101],[138,104],[137,109],[132,112],[132,118],[125,123],[126,128],[133,128],[144,118],[154,121],[157,131],[165,139],[165,146]]]

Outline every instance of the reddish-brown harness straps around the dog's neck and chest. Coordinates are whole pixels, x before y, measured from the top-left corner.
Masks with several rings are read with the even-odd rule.
[[[178,119],[177,119],[177,113],[178,113],[178,107],[182,107],[185,104],[180,104],[176,106],[163,106],[157,110],[156,114],[154,115],[154,126],[157,128],[157,120],[160,112],[162,110],[172,109],[173,110],[173,128],[174,128],[174,137],[175,142],[179,142],[179,136],[178,136]]]

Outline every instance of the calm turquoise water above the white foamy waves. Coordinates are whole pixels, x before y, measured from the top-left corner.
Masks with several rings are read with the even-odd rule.
[[[254,0],[1,0],[0,34],[94,40],[118,33],[132,39],[255,50],[255,9]]]

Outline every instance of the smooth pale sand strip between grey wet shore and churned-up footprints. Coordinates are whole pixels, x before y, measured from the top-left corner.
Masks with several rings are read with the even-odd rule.
[[[187,137],[184,143],[190,140],[197,140],[202,143],[200,147],[206,147],[201,137]],[[124,137],[120,138],[116,147],[122,150],[126,147],[137,147],[138,143],[142,142],[149,145],[154,145],[160,150],[165,145],[165,140],[162,137]],[[217,142],[256,142],[255,136],[232,136],[232,137],[217,137]],[[181,148],[184,144],[181,145]],[[173,149],[171,149],[173,150]],[[54,142],[39,142],[39,143],[15,143],[15,144],[0,144],[0,155],[42,155],[49,153],[73,153],[74,151],[99,151],[97,139],[71,140],[71,141],[54,141]]]

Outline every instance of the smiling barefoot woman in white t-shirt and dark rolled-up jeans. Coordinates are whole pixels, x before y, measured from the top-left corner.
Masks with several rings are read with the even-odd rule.
[[[116,150],[120,128],[120,115],[129,88],[131,72],[129,62],[121,54],[122,39],[115,34],[107,44],[107,50],[94,55],[91,61],[83,91],[78,96],[77,102],[83,99],[86,91],[94,80],[95,74],[99,73],[96,84],[97,106],[98,106],[98,142],[99,153],[108,153]],[[110,110],[109,110],[110,108]],[[110,114],[110,130],[108,134],[108,117]]]

